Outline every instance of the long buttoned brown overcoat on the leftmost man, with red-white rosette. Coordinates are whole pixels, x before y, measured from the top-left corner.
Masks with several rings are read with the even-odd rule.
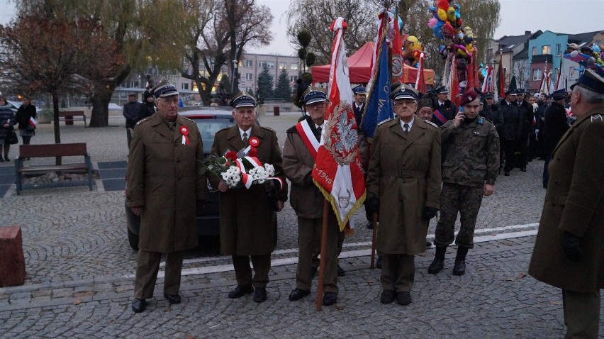
[[[182,145],[181,126],[189,129]],[[196,204],[207,199],[206,177],[199,174],[203,145],[196,124],[177,117],[169,130],[159,113],[140,121],[128,155],[128,206],[142,206],[138,247],[174,252],[197,245]]]

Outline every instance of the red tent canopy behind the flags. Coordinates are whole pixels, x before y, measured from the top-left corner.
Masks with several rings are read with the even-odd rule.
[[[371,41],[365,43],[357,52],[348,57],[348,72],[352,84],[367,84],[371,77],[371,58],[374,54],[374,43]],[[407,83],[415,83],[418,76],[418,69],[403,65],[403,79]],[[330,65],[321,65],[311,67],[313,82],[329,81]],[[424,79],[426,84],[434,84],[434,70],[424,69]]]

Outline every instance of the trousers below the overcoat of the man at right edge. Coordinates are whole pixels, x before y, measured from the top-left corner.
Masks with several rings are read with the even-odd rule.
[[[600,290],[588,293],[562,290],[565,339],[596,339],[600,323]]]

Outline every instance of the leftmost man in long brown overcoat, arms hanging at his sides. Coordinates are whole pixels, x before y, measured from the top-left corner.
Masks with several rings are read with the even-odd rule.
[[[128,206],[140,216],[138,261],[132,309],[145,311],[153,296],[162,253],[166,255],[164,296],[179,304],[183,251],[197,245],[196,208],[207,198],[199,174],[203,145],[196,123],[178,114],[172,84],[153,90],[157,113],[139,121],[128,155]]]

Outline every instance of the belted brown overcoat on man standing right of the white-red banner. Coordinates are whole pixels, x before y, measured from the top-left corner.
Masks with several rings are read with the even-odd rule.
[[[440,208],[440,132],[419,118],[405,137],[398,118],[381,124],[371,144],[368,198],[379,197],[376,249],[385,254],[425,252],[425,206]]]

